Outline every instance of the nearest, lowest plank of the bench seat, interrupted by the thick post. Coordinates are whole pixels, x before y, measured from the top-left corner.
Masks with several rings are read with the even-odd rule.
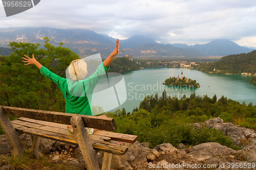
[[[45,130],[40,130],[36,128],[30,128],[22,125],[17,125],[17,124],[12,124],[13,128],[20,133],[27,133],[31,134],[34,136],[39,136],[43,138],[48,138],[60,142],[66,142],[69,144],[74,144],[78,145],[77,140],[75,136],[72,135],[62,135],[59,133],[55,132],[50,132],[50,131],[45,131]],[[124,146],[119,146],[112,144],[110,142],[105,142],[105,141],[98,141],[98,140],[93,140],[91,139],[92,145],[94,149],[103,151],[103,152],[108,152],[116,155],[124,155],[127,152],[127,147]]]

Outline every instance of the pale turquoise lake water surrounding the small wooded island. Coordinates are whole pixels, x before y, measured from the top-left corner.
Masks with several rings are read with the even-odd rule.
[[[183,77],[197,80],[201,87],[188,88],[162,84],[169,77],[180,77],[181,71],[183,71]],[[190,94],[195,91],[196,95],[203,96],[207,94],[209,98],[216,94],[217,99],[220,99],[224,95],[227,99],[238,101],[240,104],[242,102],[256,104],[256,85],[249,83],[251,79],[249,76],[213,75],[187,68],[149,68],[126,72],[123,74],[123,78],[127,100],[110,111],[125,108],[126,113],[132,112],[134,108],[139,107],[140,102],[143,101],[146,95],[155,95],[155,93],[160,95],[164,89],[167,95],[172,97],[176,95],[179,99],[183,94],[186,94],[189,98]]]

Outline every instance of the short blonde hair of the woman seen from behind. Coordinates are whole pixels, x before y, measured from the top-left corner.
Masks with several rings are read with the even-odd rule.
[[[81,59],[73,60],[69,65],[69,75],[73,80],[81,80],[88,74],[87,63]]]

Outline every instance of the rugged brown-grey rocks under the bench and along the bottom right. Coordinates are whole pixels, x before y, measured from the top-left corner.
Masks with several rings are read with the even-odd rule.
[[[255,132],[235,126],[230,123],[223,123],[220,118],[209,119],[204,123],[194,124],[195,128],[207,126],[208,128],[220,129],[223,133],[235,136],[236,141],[251,139],[251,142],[242,147],[242,150],[235,151],[219,143],[208,142],[195,145],[185,149],[184,144],[179,144],[178,149],[170,143],[157,145],[154,149],[148,148],[148,143],[135,142],[121,143],[129,146],[124,155],[112,156],[112,170],[132,169],[256,169],[256,142]],[[20,136],[28,147],[31,146],[30,135]],[[234,140],[234,142],[236,142]],[[245,143],[246,144],[246,143]],[[12,147],[5,135],[0,137],[0,151],[10,152]],[[49,160],[54,163],[61,163],[74,167],[74,169],[85,169],[86,167],[80,150],[75,145],[56,142],[49,139],[41,139],[41,152],[48,155]],[[103,152],[97,153],[98,163],[102,165]],[[237,167],[236,167],[237,165]],[[232,168],[233,166],[233,168]],[[247,166],[247,167],[246,167]],[[248,167],[250,166],[250,167]],[[201,167],[201,168],[200,168]],[[10,169],[7,164],[2,164],[1,169]]]

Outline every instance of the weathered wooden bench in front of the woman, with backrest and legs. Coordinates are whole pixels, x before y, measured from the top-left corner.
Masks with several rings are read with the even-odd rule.
[[[10,122],[7,115],[20,117]],[[77,115],[69,113],[51,112],[0,106],[0,125],[13,146],[15,154],[23,155],[23,145],[19,140],[20,133],[33,135],[31,152],[39,156],[38,147],[40,137],[60,142],[66,142],[80,147],[87,169],[99,169],[95,150],[103,151],[102,169],[110,169],[112,154],[123,155],[127,147],[113,144],[112,140],[134,143],[137,136],[120,134],[115,131],[114,118]],[[74,134],[69,132],[66,125],[72,125]],[[96,131],[88,135],[84,127],[106,131]]]

